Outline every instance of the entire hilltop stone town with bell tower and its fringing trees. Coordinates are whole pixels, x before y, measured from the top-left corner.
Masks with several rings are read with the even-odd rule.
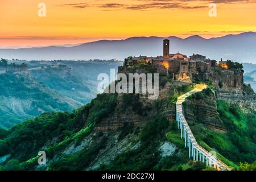
[[[138,56],[128,57],[123,67],[119,67],[120,73],[128,73],[131,69],[133,72],[143,72],[144,68],[154,68],[151,71],[162,75],[170,75],[172,80],[193,82],[198,80],[209,80],[212,72],[220,72],[227,69],[242,69],[242,64],[232,61],[216,61],[207,59],[206,56],[193,54],[191,56],[184,55],[180,52],[170,53],[170,40],[163,40],[163,55],[156,57]],[[241,82],[243,84],[243,82]],[[237,87],[237,81],[233,80],[234,87]]]

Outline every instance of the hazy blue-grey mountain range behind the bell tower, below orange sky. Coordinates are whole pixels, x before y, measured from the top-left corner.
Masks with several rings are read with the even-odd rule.
[[[155,36],[134,37],[125,40],[100,40],[73,47],[0,49],[0,56],[7,59],[25,60],[123,60],[128,56],[162,55],[163,39]],[[198,35],[185,39],[170,36],[169,39],[172,53],[181,52],[188,56],[200,53],[210,59],[220,60],[222,58],[256,63],[256,32],[211,39],[205,39]]]

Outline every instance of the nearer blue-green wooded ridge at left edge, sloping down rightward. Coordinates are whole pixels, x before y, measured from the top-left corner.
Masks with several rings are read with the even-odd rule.
[[[39,84],[27,74],[0,74],[0,80],[0,127],[3,128],[44,112],[72,111],[80,105]]]

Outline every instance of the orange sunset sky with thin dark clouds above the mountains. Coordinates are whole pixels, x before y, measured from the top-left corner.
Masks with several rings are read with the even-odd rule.
[[[38,4],[46,4],[46,17]],[[131,36],[201,35],[256,31],[256,1],[1,0],[0,48],[76,44]]]

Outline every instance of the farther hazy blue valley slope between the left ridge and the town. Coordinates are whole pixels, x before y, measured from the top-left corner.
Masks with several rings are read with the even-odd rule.
[[[116,61],[40,61],[26,62],[31,68],[29,73],[36,80],[59,93],[88,104],[97,95],[97,76],[110,74],[110,69],[117,70],[122,62]],[[43,68],[42,68],[43,67]]]

